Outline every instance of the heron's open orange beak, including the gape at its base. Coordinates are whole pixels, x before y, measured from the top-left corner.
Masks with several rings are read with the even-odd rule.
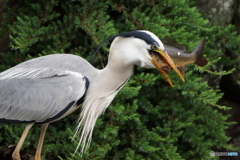
[[[170,56],[168,55],[168,53],[166,51],[164,51],[164,50],[158,48],[157,46],[155,46],[150,51],[150,55],[151,55],[151,58],[152,58],[152,64],[159,70],[159,72],[163,75],[163,77],[167,80],[167,82],[172,87],[173,87],[173,84],[172,84],[170,78],[167,75],[167,71],[165,71],[162,68],[161,64],[158,63],[159,58],[164,59],[164,61],[168,64],[168,66],[171,67],[177,73],[177,75],[182,79],[182,81],[185,81],[182,74],[178,70],[177,66],[174,64],[173,60],[170,58]]]

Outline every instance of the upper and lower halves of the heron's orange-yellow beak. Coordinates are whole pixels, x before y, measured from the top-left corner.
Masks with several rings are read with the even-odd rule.
[[[172,61],[172,59],[170,58],[170,56],[167,54],[167,52],[165,52],[162,49],[155,49],[154,52],[157,52],[160,54],[160,56],[166,61],[166,63],[172,67],[172,69],[178,74],[178,76],[182,79],[182,81],[185,81],[182,74],[180,73],[180,71],[178,70],[177,66],[174,64],[174,62]],[[170,78],[167,75],[167,72],[164,71],[161,67],[160,64],[158,64],[157,60],[155,57],[152,56],[152,64],[159,70],[160,73],[162,73],[163,77],[167,80],[167,82],[173,87],[173,84],[170,80]]]

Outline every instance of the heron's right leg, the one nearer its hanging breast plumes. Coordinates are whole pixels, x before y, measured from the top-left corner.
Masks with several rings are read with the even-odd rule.
[[[43,146],[43,140],[45,137],[45,133],[47,130],[49,123],[45,123],[41,125],[41,133],[38,141],[38,147],[35,155],[35,160],[41,160],[41,152],[42,152],[42,146]]]

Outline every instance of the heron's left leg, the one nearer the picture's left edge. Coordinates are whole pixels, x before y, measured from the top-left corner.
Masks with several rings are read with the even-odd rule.
[[[26,126],[25,130],[23,131],[23,134],[12,154],[12,159],[13,160],[21,160],[21,157],[20,157],[20,149],[22,148],[22,145],[27,137],[27,134],[29,132],[29,130],[32,128],[32,126],[34,125],[34,123],[30,123]]]

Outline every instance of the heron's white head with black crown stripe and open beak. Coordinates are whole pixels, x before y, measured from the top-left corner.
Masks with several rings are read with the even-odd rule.
[[[109,58],[119,60],[125,65],[133,64],[143,68],[157,68],[173,86],[166,71],[161,67],[161,61],[158,61],[158,59],[164,59],[184,81],[182,74],[165,51],[161,40],[149,31],[138,30],[118,35],[111,44]]]

